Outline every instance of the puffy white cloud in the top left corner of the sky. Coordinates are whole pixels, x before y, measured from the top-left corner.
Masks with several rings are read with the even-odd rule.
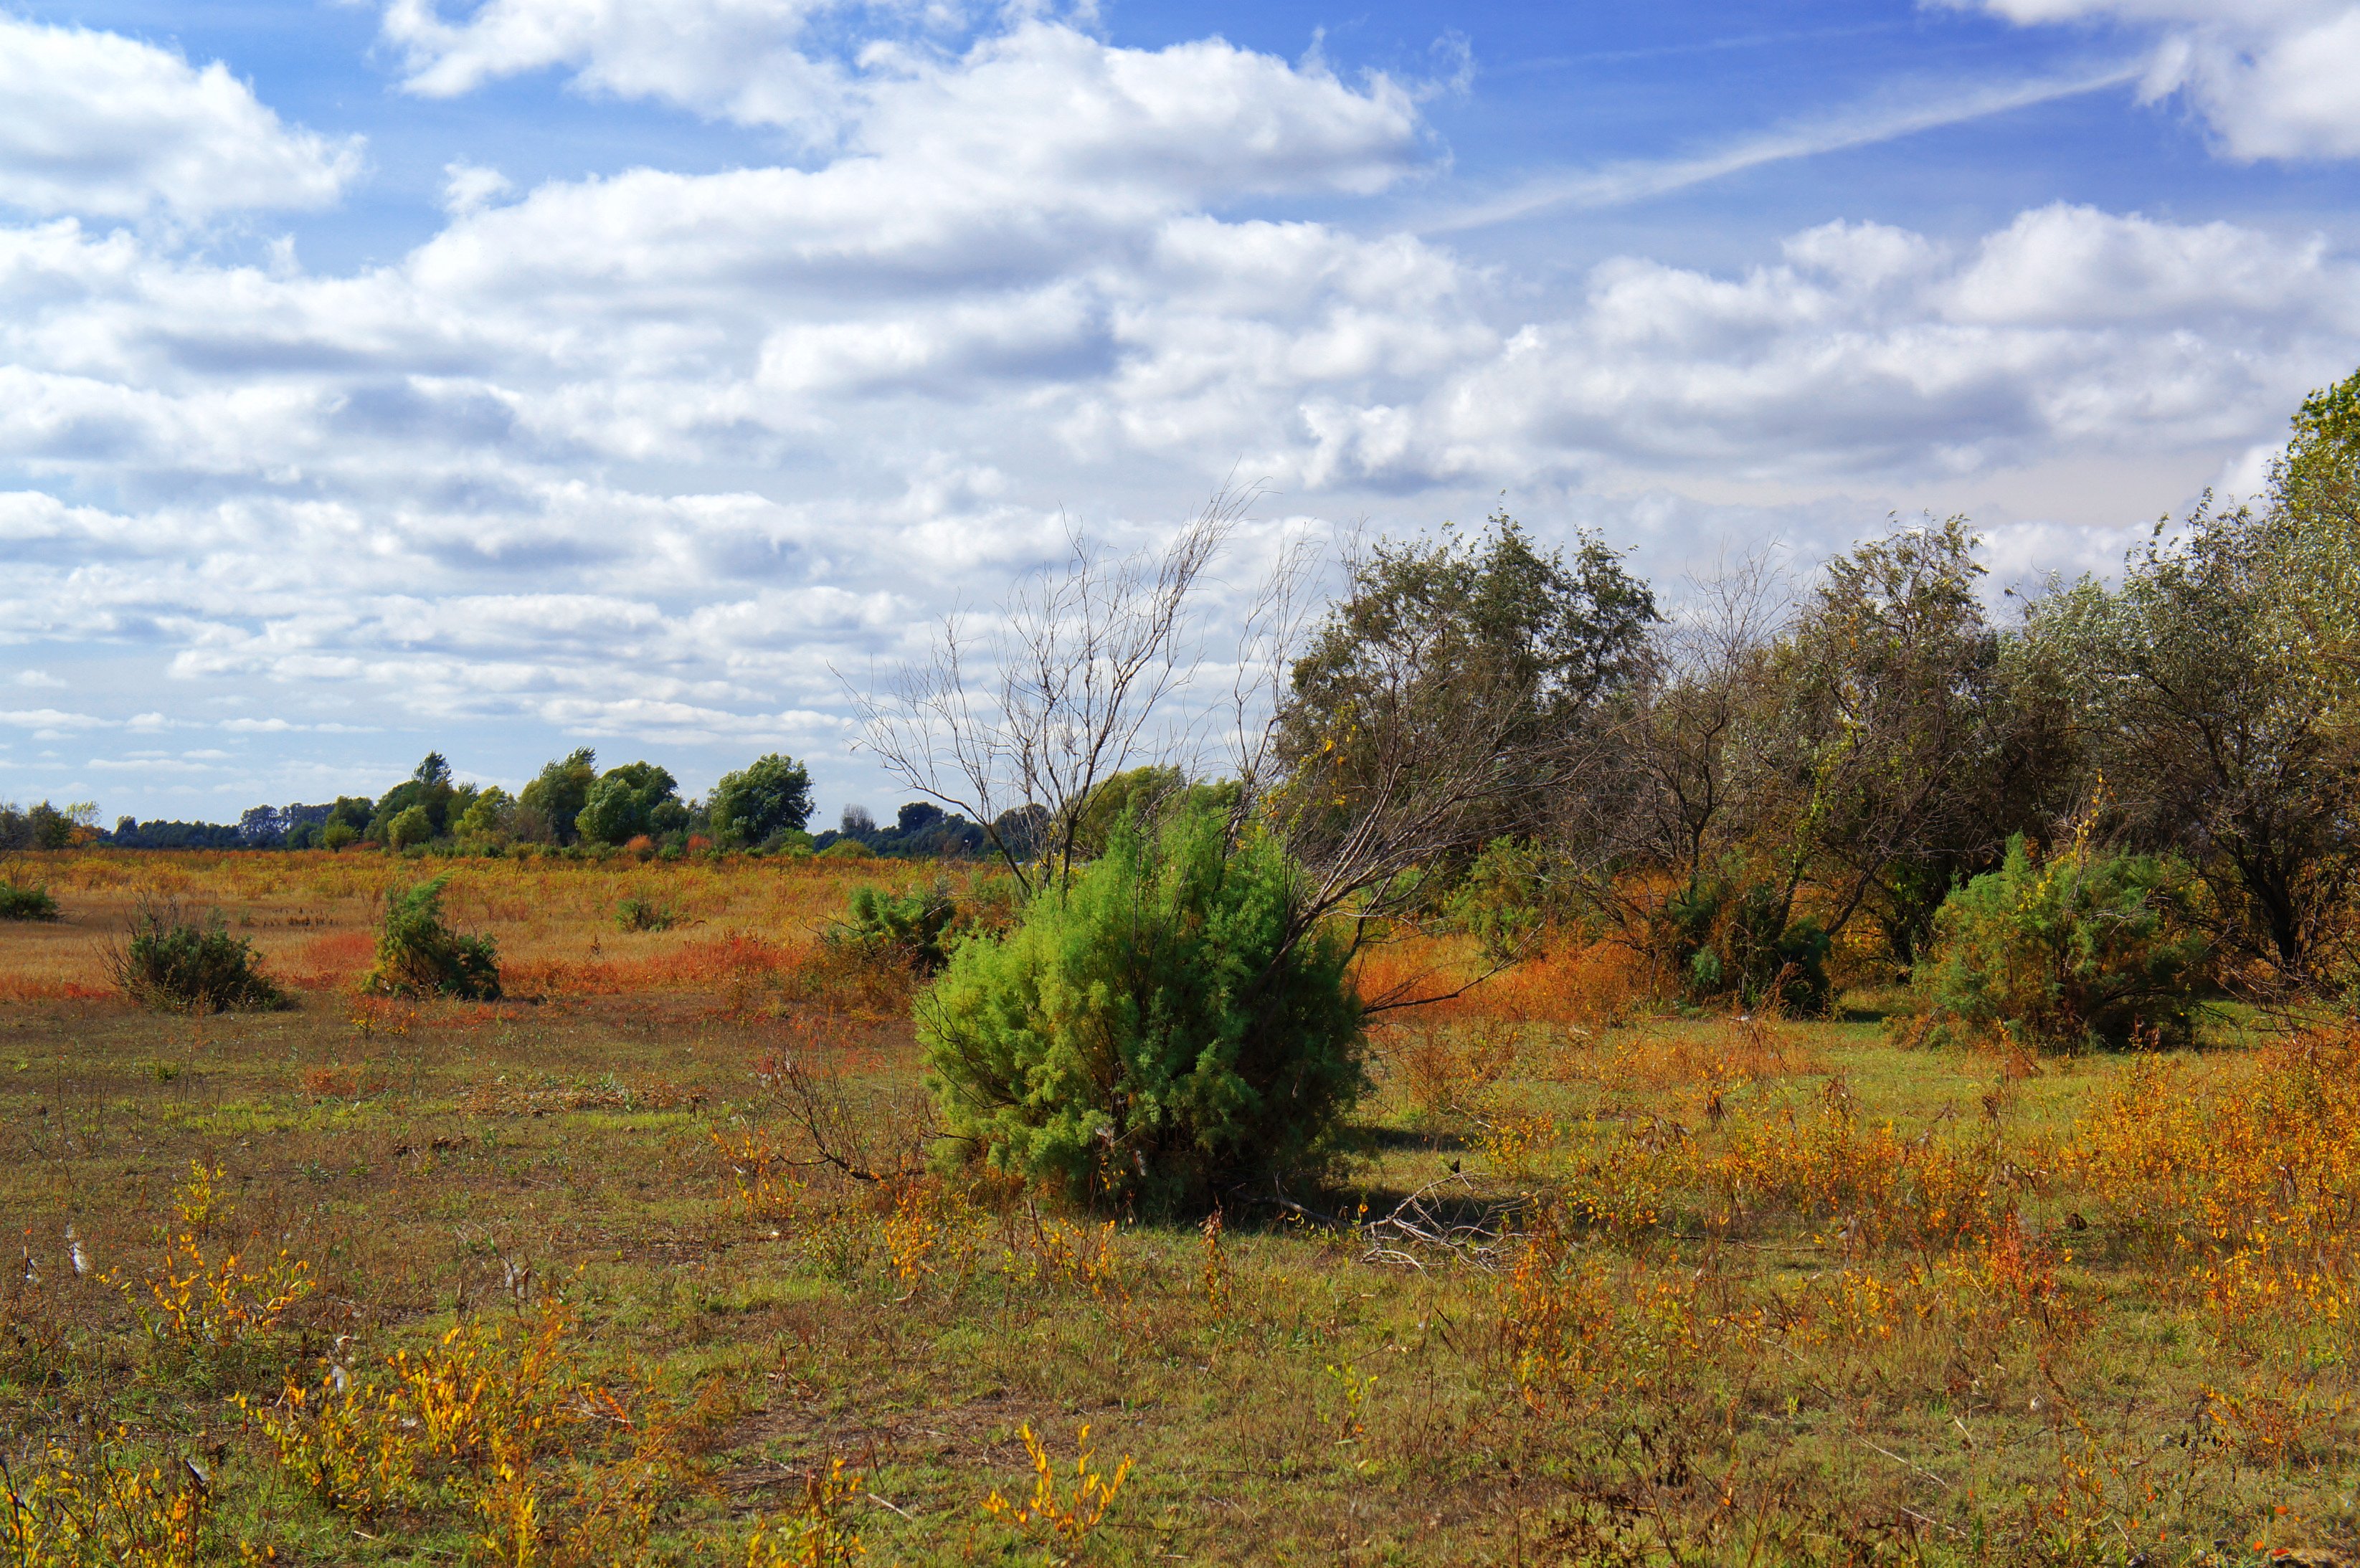
[[[359,139],[288,127],[227,66],[118,33],[0,14],[0,203],[26,212],[203,219],[321,207]]]

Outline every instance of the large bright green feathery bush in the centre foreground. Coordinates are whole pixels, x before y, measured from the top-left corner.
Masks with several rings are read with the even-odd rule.
[[[918,1002],[951,1144],[1076,1200],[1147,1210],[1319,1167],[1366,1092],[1348,943],[1298,931],[1298,868],[1192,806],[1126,816],[1003,941],[963,941]]]

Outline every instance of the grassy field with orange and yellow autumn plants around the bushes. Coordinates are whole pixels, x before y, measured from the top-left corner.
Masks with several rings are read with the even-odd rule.
[[[807,1162],[798,1108],[892,1162],[918,1096],[906,979],[817,931],[932,868],[453,865],[503,1002],[354,993],[418,870],[378,854],[17,865],[64,917],[0,924],[0,1561],[2360,1537],[2348,1040],[1905,1049],[1869,1016],[1659,1014],[1567,948],[1388,1014],[1333,1184],[1154,1226]],[[300,1004],[118,1000],[142,896],[219,910]],[[623,898],[677,922],[623,931]]]

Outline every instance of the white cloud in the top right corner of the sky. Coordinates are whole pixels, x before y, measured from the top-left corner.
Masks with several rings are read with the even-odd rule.
[[[1973,0],[1964,0],[1973,2]],[[2145,94],[2185,94],[2230,158],[2360,158],[2353,0],[1980,0],[2018,24],[2115,24],[2150,40]]]

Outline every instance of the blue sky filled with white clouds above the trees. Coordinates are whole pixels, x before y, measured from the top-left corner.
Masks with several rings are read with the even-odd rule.
[[[1506,507],[1666,599],[2254,493],[2360,365],[2346,0],[14,0],[0,799],[434,747],[909,795],[1069,531]]]

